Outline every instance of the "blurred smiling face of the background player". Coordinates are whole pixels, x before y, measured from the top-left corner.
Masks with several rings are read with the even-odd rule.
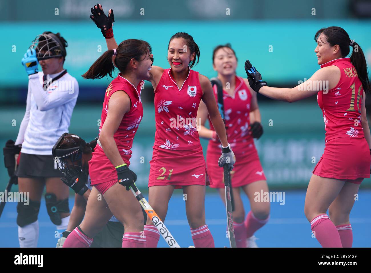
[[[236,74],[237,58],[232,49],[223,47],[215,52],[213,68],[218,74],[231,76]]]

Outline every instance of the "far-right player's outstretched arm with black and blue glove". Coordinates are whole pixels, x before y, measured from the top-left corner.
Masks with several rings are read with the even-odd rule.
[[[308,98],[319,91],[328,91],[334,88],[340,80],[339,69],[336,66],[327,66],[319,69],[311,78],[294,88],[276,88],[267,86],[267,83],[262,80],[262,75],[250,64],[249,60],[245,62],[245,71],[250,87],[255,92],[289,103]],[[312,84],[308,84],[310,82]],[[321,84],[316,84],[317,82]]]

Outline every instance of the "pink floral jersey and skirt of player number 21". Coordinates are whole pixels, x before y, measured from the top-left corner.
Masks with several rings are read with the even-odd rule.
[[[155,90],[156,133],[148,186],[209,185],[206,163],[196,129],[202,97],[198,72],[190,70],[178,88],[165,69]]]

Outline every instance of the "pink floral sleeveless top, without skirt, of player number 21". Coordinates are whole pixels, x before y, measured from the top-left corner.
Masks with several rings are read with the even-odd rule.
[[[155,90],[155,143],[161,149],[190,150],[199,147],[197,109],[202,90],[198,72],[190,69],[187,79],[178,88],[165,69]]]

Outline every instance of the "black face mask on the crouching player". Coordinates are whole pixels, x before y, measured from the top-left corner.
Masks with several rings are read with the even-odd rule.
[[[66,149],[60,149],[57,148],[60,144],[60,142],[64,139],[68,133],[62,134],[62,136],[59,137],[58,141],[55,143],[53,149],[52,149],[52,155],[54,156],[54,160],[57,163],[58,169],[62,172],[66,172],[67,169],[75,168],[78,170],[81,170],[82,168],[82,154],[84,151],[84,147],[86,146],[85,140],[83,140],[81,137],[76,135],[71,135],[78,137],[81,139],[81,143],[78,146],[78,144],[73,140],[73,138],[70,138],[72,142],[76,145],[75,147],[66,148]],[[68,160],[72,162],[72,164],[68,163]],[[75,164],[76,163],[76,164]]]

